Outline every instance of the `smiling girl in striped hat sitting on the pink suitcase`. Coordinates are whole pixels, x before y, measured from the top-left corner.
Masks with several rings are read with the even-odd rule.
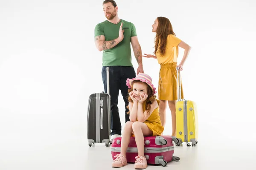
[[[134,167],[145,169],[148,164],[144,155],[144,136],[160,136],[163,132],[158,113],[159,100],[154,96],[156,88],[152,84],[151,77],[147,74],[140,73],[133,79],[127,79],[126,82],[129,88],[128,114],[130,114],[131,122],[125,123],[121,153],[115,156],[116,159],[112,162],[112,167],[127,165],[126,150],[133,134],[138,148]]]

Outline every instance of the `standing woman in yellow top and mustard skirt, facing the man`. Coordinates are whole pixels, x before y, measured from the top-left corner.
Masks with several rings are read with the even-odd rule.
[[[172,113],[172,136],[176,136],[176,100],[177,100],[177,57],[178,47],[184,48],[183,58],[178,65],[179,71],[183,70],[183,64],[188,57],[191,47],[176,37],[172,24],[166,17],[157,17],[152,25],[152,32],[156,32],[154,55],[144,54],[143,57],[157,59],[160,64],[158,99],[159,115],[162,126],[166,124],[167,101]],[[181,84],[181,98],[183,90]]]

